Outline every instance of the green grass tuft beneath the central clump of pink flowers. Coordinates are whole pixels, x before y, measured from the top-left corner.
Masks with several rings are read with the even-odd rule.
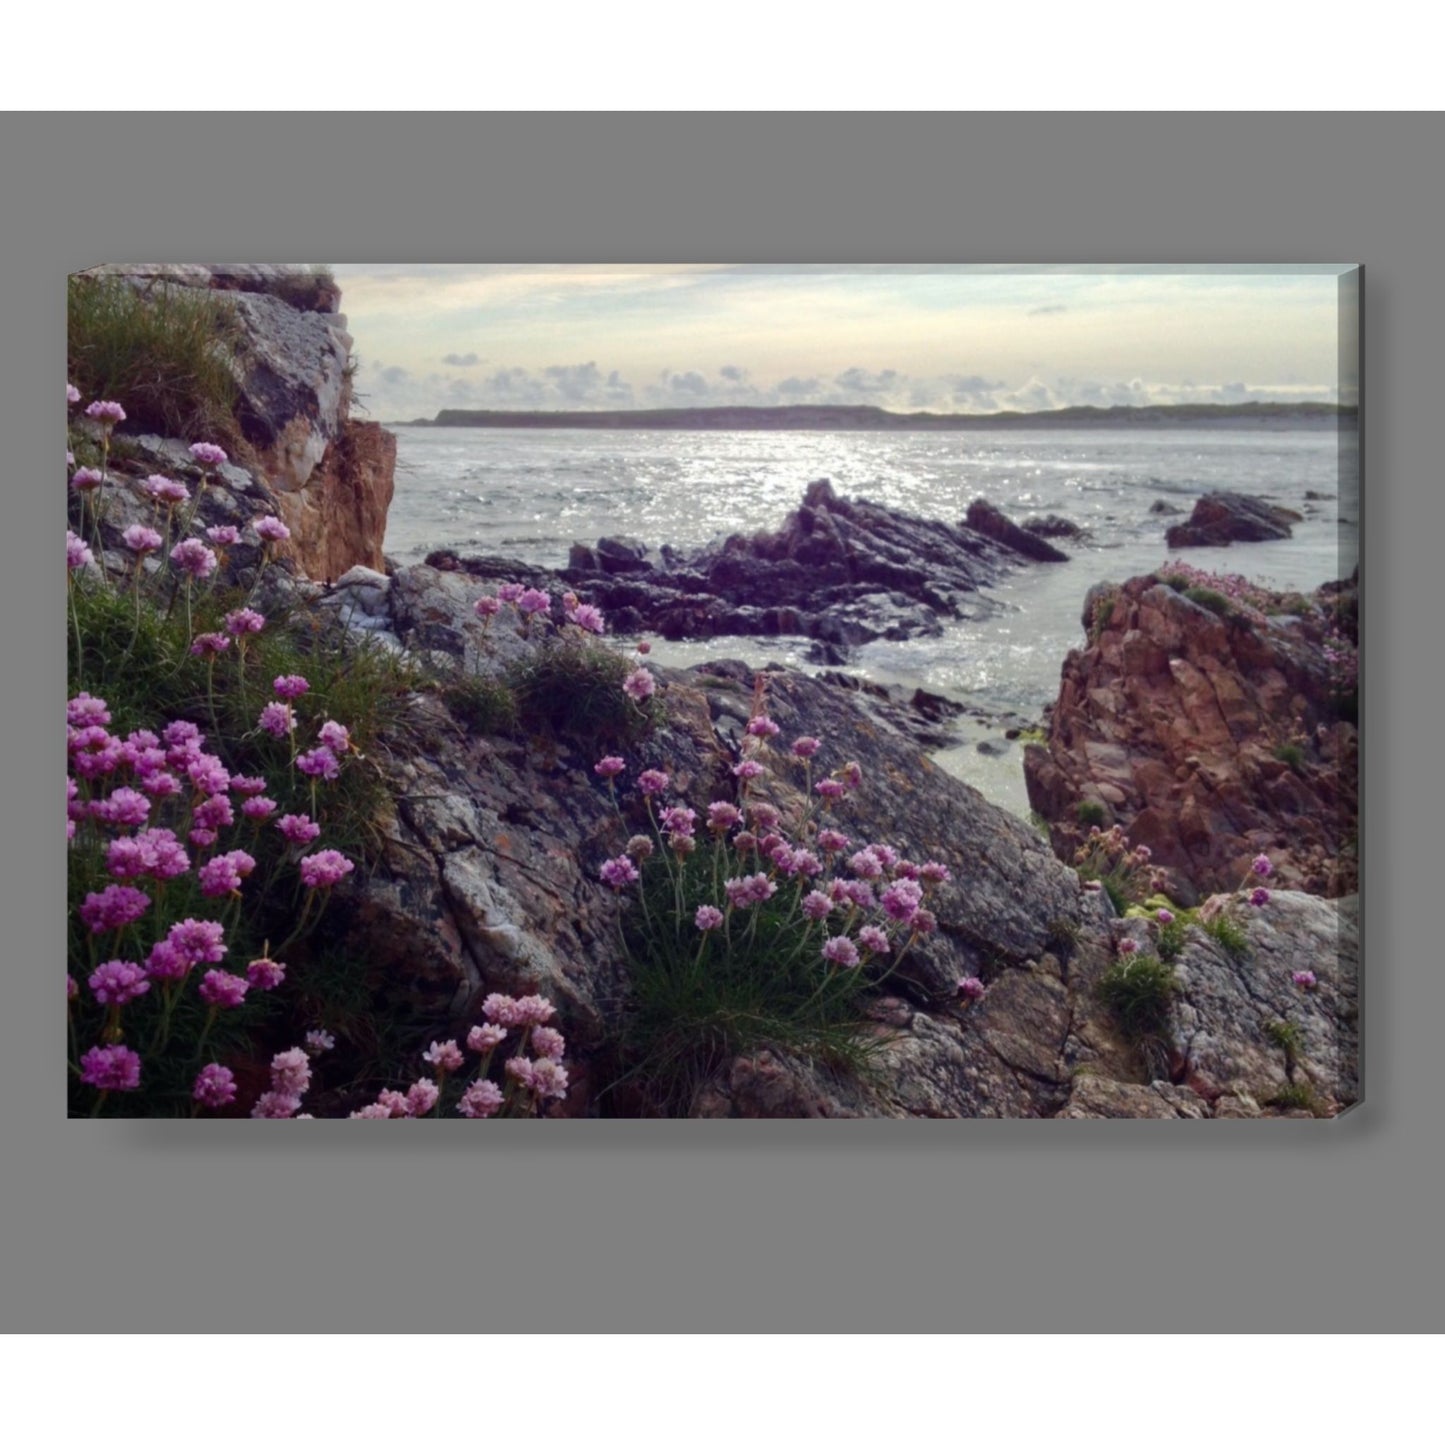
[[[685,1116],[704,1084],[760,1048],[870,1078],[880,1043],[860,1012],[868,965],[831,970],[819,926],[805,932],[805,920],[789,916],[788,889],[734,912],[727,935],[699,933],[692,918],[714,900],[711,883],[707,845],[682,870],[681,887],[660,855],[647,860],[646,909],[634,903],[624,929],[630,997],[618,1084],[657,1113]]]

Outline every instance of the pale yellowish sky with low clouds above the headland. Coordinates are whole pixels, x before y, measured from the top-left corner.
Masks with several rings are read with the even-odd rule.
[[[377,420],[441,407],[1338,399],[1344,267],[337,264]]]

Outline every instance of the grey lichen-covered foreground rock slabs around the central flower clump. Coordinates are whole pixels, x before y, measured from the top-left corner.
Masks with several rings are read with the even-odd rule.
[[[483,588],[464,571],[403,568],[386,578],[357,568],[325,594],[305,581],[290,587],[293,600],[331,608],[353,629],[461,659],[470,672],[499,676],[540,646],[510,614],[483,637],[468,621]],[[490,991],[542,991],[568,1038],[565,1111],[618,1108],[624,1095],[610,1091],[608,1071],[629,998],[618,933],[629,903],[598,867],[644,825],[629,782],[642,769],[666,769],[675,796],[699,812],[733,796],[730,767],[762,696],[783,737],[824,738],[819,772],[861,766],[863,786],[840,818],[850,834],[941,858],[954,877],[933,900],[938,933],[868,1007],[879,1045],[871,1075],[760,1048],[727,1061],[694,1114],[1256,1118],[1299,1113],[1306,1098],[1331,1114],[1357,1097],[1348,905],[1300,893],[1276,893],[1266,909],[1235,900],[1248,948],[1240,958],[1189,929],[1169,1038],[1146,1058],[1095,990],[1120,939],[1147,946],[1150,925],[1114,919],[1032,828],[938,772],[896,699],[857,679],[733,662],[657,676],[668,724],[629,751],[620,808],[591,773],[594,746],[477,736],[436,696],[419,695],[406,737],[376,750],[394,808],[379,864],[350,886],[347,919],[353,946],[387,993],[431,1020],[422,1023],[431,1036],[441,1026],[460,1036]],[[802,782],[801,769],[780,763],[756,786],[786,818],[802,806]],[[1311,993],[1290,984],[1305,967],[1319,980]],[[988,980],[978,1003],[958,1001],[965,974]],[[1290,1056],[1270,1038],[1272,1022],[1293,1025]]]

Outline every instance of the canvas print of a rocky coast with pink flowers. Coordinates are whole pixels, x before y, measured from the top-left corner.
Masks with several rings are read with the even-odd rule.
[[[1357,267],[66,299],[71,1117],[1358,1100]]]

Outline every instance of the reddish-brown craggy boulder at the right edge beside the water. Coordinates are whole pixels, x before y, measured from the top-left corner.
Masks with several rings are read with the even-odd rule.
[[[1218,616],[1155,577],[1095,588],[1048,746],[1025,751],[1030,805],[1061,857],[1092,803],[1185,892],[1233,889],[1266,853],[1287,886],[1353,893],[1358,740],[1325,656],[1327,618],[1348,616],[1350,597],[1322,590],[1302,616],[1228,603]]]

